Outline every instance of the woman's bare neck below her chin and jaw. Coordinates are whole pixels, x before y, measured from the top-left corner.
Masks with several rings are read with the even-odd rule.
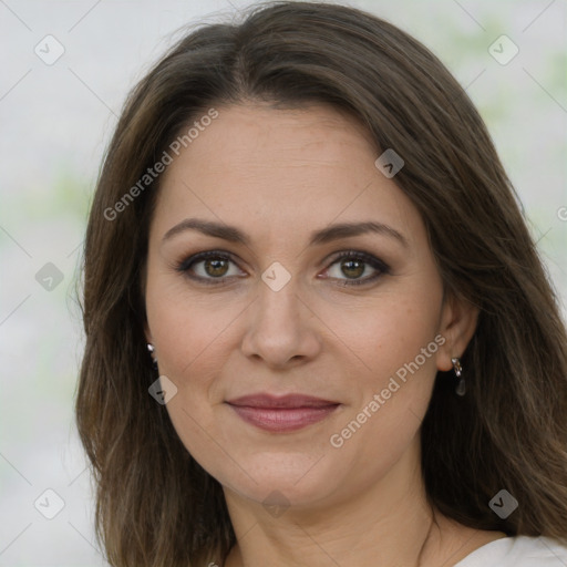
[[[270,515],[233,491],[225,496],[237,536],[225,567],[417,567],[440,558],[441,527],[426,501],[419,451],[406,452],[381,481],[324,504]]]

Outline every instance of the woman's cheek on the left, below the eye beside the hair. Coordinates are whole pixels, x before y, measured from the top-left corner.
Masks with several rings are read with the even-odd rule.
[[[159,374],[177,388],[167,412],[182,442],[200,462],[200,455],[212,453],[207,432],[216,429],[215,404],[221,402],[217,379],[235,349],[227,340],[241,306],[221,306],[215,299],[205,305],[183,285],[156,276],[148,279],[146,312]]]

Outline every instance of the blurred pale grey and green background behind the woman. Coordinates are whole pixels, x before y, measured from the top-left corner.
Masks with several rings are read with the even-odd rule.
[[[412,33],[467,89],[565,303],[565,2],[349,3]],[[0,567],[106,565],[72,413],[82,351],[74,288],[89,203],[134,82],[181,27],[231,18],[248,4],[0,2]],[[519,50],[506,64],[489,51],[502,34]],[[53,42],[47,35],[56,43],[42,59],[38,51]],[[47,64],[59,44],[63,54]],[[45,513],[59,501],[45,489],[64,504],[52,519]]]

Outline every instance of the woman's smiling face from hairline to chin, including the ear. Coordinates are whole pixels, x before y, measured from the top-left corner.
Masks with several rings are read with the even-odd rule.
[[[235,497],[402,482],[435,373],[474,330],[377,157],[334,110],[249,104],[218,107],[164,174],[146,334],[175,430]]]

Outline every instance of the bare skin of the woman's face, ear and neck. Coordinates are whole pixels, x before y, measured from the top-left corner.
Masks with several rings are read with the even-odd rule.
[[[436,371],[462,355],[477,311],[443,298],[423,221],[395,177],[374,166],[380,153],[365,131],[323,105],[250,102],[218,111],[163,174],[150,233],[146,338],[159,374],[178,389],[167,403],[175,430],[224,487],[238,538],[225,565],[451,566],[504,537],[426,504],[421,421]],[[249,243],[195,229],[164,240],[188,217],[234,225]],[[309,245],[316,229],[363,220],[389,225],[406,246],[371,233]],[[220,272],[225,285],[176,270],[205,250],[234,258],[223,269],[197,262],[192,272],[216,281]],[[369,264],[353,270],[337,259],[344,250],[363,250],[390,270],[344,287],[380,274]],[[275,261],[290,276],[278,291],[261,279]],[[331,435],[436,336],[444,344],[332,446]],[[341,405],[302,430],[270,433],[225,403],[257,392]],[[285,506],[275,512],[266,498]]]

